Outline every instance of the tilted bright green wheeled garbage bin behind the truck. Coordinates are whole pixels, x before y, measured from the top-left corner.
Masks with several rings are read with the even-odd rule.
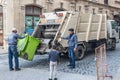
[[[26,60],[33,60],[37,46],[41,43],[41,40],[32,36],[26,36],[24,39],[18,40],[18,53],[19,57]]]

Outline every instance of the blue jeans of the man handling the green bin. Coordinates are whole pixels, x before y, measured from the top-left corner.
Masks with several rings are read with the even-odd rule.
[[[17,47],[16,45],[9,45],[8,47],[9,69],[13,68],[13,56],[15,61],[15,69],[17,69],[19,68]]]

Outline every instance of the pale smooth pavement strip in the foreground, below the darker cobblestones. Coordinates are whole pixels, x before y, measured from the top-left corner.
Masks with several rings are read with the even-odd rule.
[[[0,66],[1,80],[48,80],[49,71],[42,69],[23,68],[21,71],[9,71],[7,67]],[[12,77],[11,77],[12,76]],[[58,72],[58,80],[96,80],[94,76]]]

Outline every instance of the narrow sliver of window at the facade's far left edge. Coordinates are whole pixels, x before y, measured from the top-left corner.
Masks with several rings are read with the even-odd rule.
[[[0,46],[3,46],[3,7],[0,6]]]

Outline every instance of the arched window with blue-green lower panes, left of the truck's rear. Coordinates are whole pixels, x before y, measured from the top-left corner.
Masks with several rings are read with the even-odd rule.
[[[25,32],[32,34],[34,28],[39,22],[39,15],[42,13],[42,8],[34,5],[27,5],[25,11]]]

